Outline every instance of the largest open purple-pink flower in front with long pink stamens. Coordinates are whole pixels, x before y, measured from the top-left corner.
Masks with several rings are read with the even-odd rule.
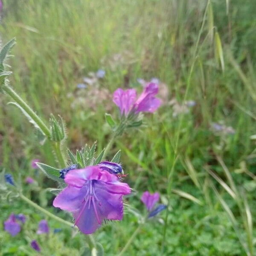
[[[67,187],[53,201],[54,207],[73,213],[75,225],[84,234],[93,233],[102,221],[122,220],[122,195],[130,194],[126,183],[99,166],[71,170]]]

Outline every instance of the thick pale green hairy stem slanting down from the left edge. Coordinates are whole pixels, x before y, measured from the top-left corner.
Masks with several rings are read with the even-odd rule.
[[[20,98],[20,96],[13,90],[11,87],[5,85],[3,86],[3,90],[6,94],[8,94],[17,104],[20,105],[21,108],[31,117],[31,119],[39,126],[41,131],[47,136],[50,137],[51,133],[49,128],[44,124],[41,118]]]

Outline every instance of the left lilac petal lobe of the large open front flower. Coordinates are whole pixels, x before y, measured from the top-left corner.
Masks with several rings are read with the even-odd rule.
[[[86,184],[85,184],[86,185]],[[68,185],[54,199],[53,206],[69,212],[75,211],[81,207],[84,196],[87,193],[87,186],[77,188]]]

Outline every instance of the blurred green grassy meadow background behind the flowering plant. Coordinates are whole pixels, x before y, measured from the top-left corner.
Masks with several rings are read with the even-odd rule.
[[[161,108],[145,114],[144,127],[116,140],[108,157],[122,150],[125,182],[134,188],[128,207],[143,212],[145,190],[160,192],[164,204],[169,198],[166,241],[161,252],[162,212],[159,221],[141,228],[124,255],[255,253],[255,13],[253,0],[3,1],[2,42],[17,39],[10,84],[47,122],[50,113],[63,117],[72,150],[97,140],[99,153],[108,143],[104,114],[118,116],[111,101],[117,87],[141,91],[138,78],[160,80]],[[76,87],[98,69],[105,70],[103,79]],[[182,105],[185,95],[194,106]],[[38,186],[23,184],[26,195],[71,221],[51,207],[46,189],[56,184],[30,167],[34,158],[56,166],[49,144],[40,144],[9,101],[0,95],[0,169],[21,182],[32,176]],[[232,198],[225,186],[239,196]],[[28,241],[44,215],[19,199],[1,201],[0,207],[1,222],[10,212],[29,216],[14,238],[0,228],[0,255],[36,255]],[[105,255],[117,255],[138,226],[136,215],[125,212],[122,222],[95,234]],[[52,230],[61,227],[48,221]],[[42,255],[82,255],[84,236],[62,228],[39,238]]]

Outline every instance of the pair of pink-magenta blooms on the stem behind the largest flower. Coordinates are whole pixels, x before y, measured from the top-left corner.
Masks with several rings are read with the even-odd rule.
[[[130,111],[152,113],[161,105],[160,99],[155,97],[157,93],[158,85],[155,83],[147,84],[137,100],[136,90],[118,88],[113,93],[113,102],[119,107],[121,114],[127,115]]]

